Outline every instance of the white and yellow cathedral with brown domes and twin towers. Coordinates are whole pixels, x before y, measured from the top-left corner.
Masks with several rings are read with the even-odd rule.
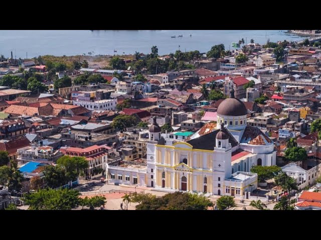
[[[257,187],[254,165],[276,163],[272,140],[247,125],[247,110],[234,97],[222,101],[217,123],[207,123],[184,141],[167,140],[155,119],[147,142],[147,186],[165,191],[248,196]]]

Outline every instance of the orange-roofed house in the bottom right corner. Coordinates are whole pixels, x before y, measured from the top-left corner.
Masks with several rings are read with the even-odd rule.
[[[321,192],[303,191],[295,203],[296,210],[321,210]]]

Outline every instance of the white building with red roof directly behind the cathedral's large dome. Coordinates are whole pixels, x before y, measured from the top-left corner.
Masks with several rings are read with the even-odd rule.
[[[233,89],[235,98],[240,99],[246,97],[246,90],[244,89],[244,85],[248,82],[249,80],[243,76],[238,76],[226,80],[224,83],[224,95],[229,96],[231,94],[231,89]]]

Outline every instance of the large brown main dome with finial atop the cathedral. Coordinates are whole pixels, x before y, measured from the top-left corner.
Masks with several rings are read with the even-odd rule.
[[[231,90],[231,96],[221,102],[217,108],[217,114],[225,116],[243,116],[247,114],[244,103],[234,97],[234,90]]]

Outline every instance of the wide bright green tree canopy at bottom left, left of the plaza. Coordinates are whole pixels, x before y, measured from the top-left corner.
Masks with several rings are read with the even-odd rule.
[[[79,191],[74,189],[40,189],[25,196],[29,210],[71,210],[79,204]]]

